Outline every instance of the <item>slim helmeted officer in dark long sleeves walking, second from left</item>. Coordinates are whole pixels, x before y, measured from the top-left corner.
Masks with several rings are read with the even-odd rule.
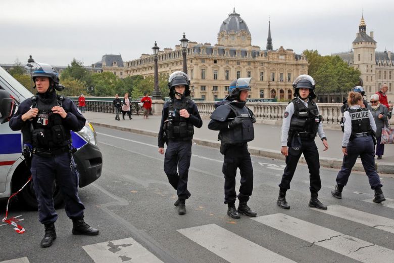
[[[189,86],[187,74],[175,71],[170,75],[170,100],[164,104],[158,136],[160,154],[164,154],[164,143],[167,143],[164,172],[178,195],[174,203],[178,206],[178,214],[186,213],[185,201],[191,195],[187,190],[187,177],[194,126],[200,128],[203,125],[197,105],[190,99]]]

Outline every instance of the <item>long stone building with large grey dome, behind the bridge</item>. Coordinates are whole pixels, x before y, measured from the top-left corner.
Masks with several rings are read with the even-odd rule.
[[[104,67],[103,67],[104,68]],[[124,62],[123,76],[154,75],[154,56]],[[182,70],[182,49],[165,48],[158,55],[159,74]],[[187,73],[191,78],[192,96],[212,101],[224,98],[230,82],[240,77],[254,77],[251,98],[292,98],[292,81],[308,73],[308,62],[303,55],[291,49],[272,48],[271,28],[265,50],[252,45],[252,35],[246,22],[234,11],[220,26],[217,43],[189,41],[187,46]]]

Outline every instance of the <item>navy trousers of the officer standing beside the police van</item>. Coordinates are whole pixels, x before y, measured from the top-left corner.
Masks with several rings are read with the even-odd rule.
[[[39,221],[42,224],[55,223],[58,219],[52,197],[55,179],[63,195],[66,214],[71,219],[83,217],[85,207],[78,196],[79,178],[72,169],[74,168],[68,152],[52,157],[33,154],[30,171],[38,202]]]

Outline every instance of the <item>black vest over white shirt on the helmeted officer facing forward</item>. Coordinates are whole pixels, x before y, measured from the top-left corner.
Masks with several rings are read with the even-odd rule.
[[[294,105],[294,114],[290,120],[290,130],[295,132],[309,133],[314,138],[321,118],[316,103],[308,101],[308,107],[300,99],[295,98],[291,101]]]

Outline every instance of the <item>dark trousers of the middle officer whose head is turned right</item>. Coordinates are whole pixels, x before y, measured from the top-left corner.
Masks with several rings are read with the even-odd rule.
[[[229,145],[224,154],[224,203],[233,203],[236,200],[235,177],[237,168],[241,175],[241,186],[239,187],[238,200],[248,202],[253,191],[253,167],[248,145]]]

